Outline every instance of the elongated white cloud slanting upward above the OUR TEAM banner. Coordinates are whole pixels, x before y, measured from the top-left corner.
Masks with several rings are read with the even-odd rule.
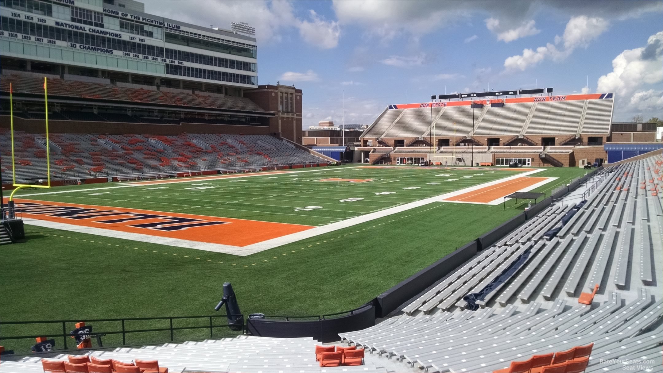
[[[605,19],[597,17],[576,16],[571,17],[566,24],[564,34],[555,36],[555,44],[546,44],[536,50],[525,48],[522,54],[511,56],[504,61],[504,67],[509,71],[524,71],[535,66],[539,62],[550,58],[556,62],[564,60],[573,53],[575,48],[585,47],[589,42],[599,37],[607,30],[609,23]],[[564,48],[559,49],[557,45],[562,44]]]

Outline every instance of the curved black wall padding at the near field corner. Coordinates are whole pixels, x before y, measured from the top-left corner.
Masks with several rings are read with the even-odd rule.
[[[259,337],[298,338],[313,337],[320,342],[339,340],[338,333],[357,331],[375,325],[375,307],[367,304],[351,315],[314,321],[285,321],[275,319],[248,319],[247,330]]]

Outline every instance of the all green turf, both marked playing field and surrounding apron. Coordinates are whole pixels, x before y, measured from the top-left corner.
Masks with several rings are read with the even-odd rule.
[[[121,184],[67,186],[51,190],[65,193],[25,198],[320,226],[514,175],[496,168],[303,170],[312,171],[95,191],[82,189]],[[550,195],[583,174],[579,168],[546,169],[534,176],[558,179],[534,191]],[[324,178],[375,181],[317,181]],[[187,189],[202,186],[211,187]],[[417,188],[403,189],[409,187]],[[375,194],[389,191],[394,193]],[[102,192],[112,194],[95,194]],[[353,197],[363,199],[340,201]],[[223,282],[233,284],[245,315],[353,309],[522,212],[526,203],[509,201],[504,209],[434,202],[249,256],[26,224],[25,242],[0,246],[0,315],[3,321],[210,315]],[[307,206],[322,208],[294,211]],[[0,335],[36,330],[2,327]],[[147,341],[137,338],[135,343]]]

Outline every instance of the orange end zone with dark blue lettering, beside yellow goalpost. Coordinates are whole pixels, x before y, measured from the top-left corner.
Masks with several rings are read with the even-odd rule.
[[[314,227],[78,203],[14,199],[23,217],[171,239],[247,246]]]

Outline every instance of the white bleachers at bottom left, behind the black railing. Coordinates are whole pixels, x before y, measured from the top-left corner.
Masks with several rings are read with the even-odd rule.
[[[88,351],[87,355],[101,359],[113,358],[122,362],[135,359],[157,360],[172,373],[182,370],[233,373],[359,373],[387,372],[371,364],[320,368],[316,361],[312,338],[266,338],[241,335],[237,338],[168,343],[141,348],[116,348],[112,351]],[[59,354],[50,360],[67,360]],[[3,361],[0,373],[43,372],[41,358],[26,357],[18,362]]]

